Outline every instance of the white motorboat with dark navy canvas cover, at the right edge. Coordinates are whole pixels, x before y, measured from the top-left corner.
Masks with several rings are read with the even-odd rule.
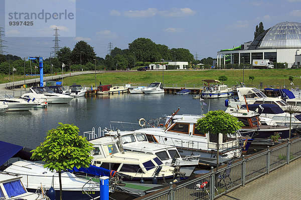
[[[246,109],[246,105],[242,105]],[[248,105],[249,110],[258,112],[260,119],[262,117],[269,117],[271,120],[266,122],[268,125],[284,125],[291,127],[301,128],[301,114],[292,113],[291,118],[288,112],[284,112],[278,105],[275,104],[250,104]]]

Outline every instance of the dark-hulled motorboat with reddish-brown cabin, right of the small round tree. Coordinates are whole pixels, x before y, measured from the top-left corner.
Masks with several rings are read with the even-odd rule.
[[[268,139],[274,133],[278,133],[281,139],[289,138],[289,127],[279,125],[267,125],[260,121],[259,113],[249,109],[237,109],[228,107],[227,113],[235,116],[244,126],[239,129],[242,136],[249,136],[256,139]],[[291,137],[294,136],[295,129],[291,129]]]

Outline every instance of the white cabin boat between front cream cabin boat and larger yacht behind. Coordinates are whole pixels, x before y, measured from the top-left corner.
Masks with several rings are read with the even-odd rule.
[[[181,157],[175,146],[148,142],[144,133],[134,131],[108,131],[106,135],[121,138],[123,149],[129,152],[157,155],[165,165],[170,166],[197,166],[199,159],[196,156]]]

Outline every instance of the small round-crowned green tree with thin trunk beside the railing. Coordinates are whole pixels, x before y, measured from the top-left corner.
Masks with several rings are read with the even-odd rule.
[[[197,129],[209,134],[236,134],[236,131],[243,126],[241,121],[223,110],[209,111],[204,117],[198,119]],[[218,136],[219,138],[219,136]],[[217,169],[219,156],[219,139],[217,139]]]

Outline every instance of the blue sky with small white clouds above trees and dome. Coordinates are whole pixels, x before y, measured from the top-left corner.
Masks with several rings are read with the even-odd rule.
[[[265,29],[282,21],[301,22],[301,0],[76,0],[76,37],[68,37],[59,26],[59,46],[72,49],[83,39],[104,57],[109,42],[124,49],[146,37],[170,48],[187,48],[201,59],[252,40],[260,21]],[[5,0],[0,0],[4,26]],[[21,57],[49,57],[54,46],[54,36],[4,39],[5,51]]]

